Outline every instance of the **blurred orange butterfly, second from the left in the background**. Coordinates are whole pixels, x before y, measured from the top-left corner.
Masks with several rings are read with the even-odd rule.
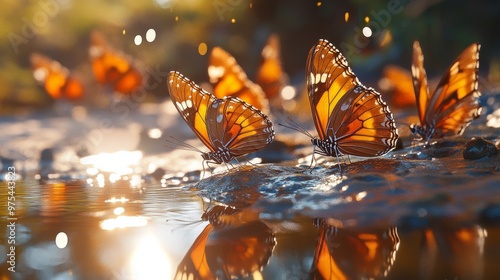
[[[101,33],[92,33],[89,54],[99,83],[110,84],[116,92],[124,95],[142,86],[144,76],[132,59],[108,46]]]

